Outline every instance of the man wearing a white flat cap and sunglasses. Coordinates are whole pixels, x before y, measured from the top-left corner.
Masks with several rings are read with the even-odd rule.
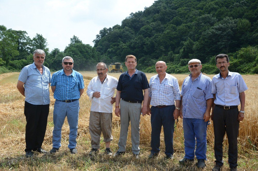
[[[197,167],[204,168],[207,151],[207,125],[213,103],[211,79],[201,73],[201,61],[188,62],[191,74],[184,79],[181,90],[180,117],[183,118],[185,156],[179,163],[193,161],[196,155]],[[196,144],[197,141],[197,144]],[[196,145],[196,150],[195,150]]]

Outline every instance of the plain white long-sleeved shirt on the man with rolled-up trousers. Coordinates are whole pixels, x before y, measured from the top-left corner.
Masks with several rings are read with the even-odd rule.
[[[118,80],[115,77],[107,75],[107,78],[101,84],[99,77],[94,77],[87,88],[87,95],[91,100],[91,111],[112,113],[113,105],[110,103],[114,96]],[[95,91],[100,92],[100,97],[93,97]]]

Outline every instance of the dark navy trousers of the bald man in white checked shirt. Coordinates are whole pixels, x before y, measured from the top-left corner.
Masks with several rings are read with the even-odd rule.
[[[158,153],[160,151],[160,132],[163,125],[165,154],[170,155],[174,153],[173,149],[173,134],[175,119],[173,112],[175,105],[164,108],[151,107],[151,153]]]

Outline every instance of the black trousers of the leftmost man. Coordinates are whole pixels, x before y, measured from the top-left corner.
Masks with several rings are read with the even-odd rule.
[[[41,148],[45,137],[48,114],[49,104],[33,105],[25,101],[24,115],[27,121],[25,132],[26,152]]]

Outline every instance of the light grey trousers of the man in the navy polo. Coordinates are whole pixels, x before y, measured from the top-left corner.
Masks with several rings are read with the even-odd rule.
[[[141,103],[129,103],[121,99],[120,101],[120,137],[118,141],[118,151],[125,152],[129,121],[131,121],[131,140],[133,154],[139,154],[140,148],[140,117]]]

